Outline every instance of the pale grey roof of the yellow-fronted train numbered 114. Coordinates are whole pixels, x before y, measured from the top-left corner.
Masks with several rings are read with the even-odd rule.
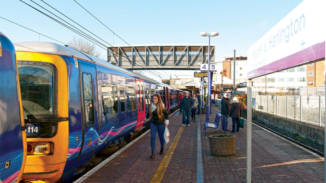
[[[1,33],[1,32],[0,32]],[[66,56],[71,56],[71,57],[76,57],[76,58],[81,58],[83,60],[89,60],[98,64],[106,65],[111,68],[117,69],[124,71],[126,73],[129,73],[130,75],[146,79],[148,81],[151,81],[153,83],[161,84],[161,85],[166,85],[171,88],[173,88],[170,85],[163,84],[161,82],[155,81],[151,78],[148,78],[146,76],[142,76],[138,73],[132,72],[128,69],[113,65],[105,60],[102,60],[100,58],[97,58],[95,56],[82,53],[78,50],[75,50],[73,48],[57,44],[57,43],[52,43],[52,42],[18,42],[14,44],[16,51],[25,51],[25,52],[37,52],[37,53],[49,53],[49,54],[57,54],[57,55],[66,55]]]

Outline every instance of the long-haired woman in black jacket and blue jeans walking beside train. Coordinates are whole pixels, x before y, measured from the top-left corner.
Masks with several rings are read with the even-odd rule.
[[[152,119],[151,127],[150,127],[152,155],[150,156],[150,158],[154,158],[156,133],[158,132],[158,138],[160,139],[160,143],[161,143],[160,154],[163,154],[164,130],[165,127],[168,127],[169,125],[169,113],[164,107],[164,104],[159,94],[153,95],[152,103],[148,109],[148,113],[146,115],[144,123],[146,123],[149,119]]]

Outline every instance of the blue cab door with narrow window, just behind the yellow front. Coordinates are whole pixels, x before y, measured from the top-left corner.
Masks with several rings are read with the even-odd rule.
[[[79,63],[82,99],[82,144],[78,160],[94,153],[97,144],[98,99],[96,68]]]

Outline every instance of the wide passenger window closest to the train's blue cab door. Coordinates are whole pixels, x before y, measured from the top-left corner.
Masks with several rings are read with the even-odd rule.
[[[119,112],[117,87],[111,84],[101,84],[102,112],[104,116]]]

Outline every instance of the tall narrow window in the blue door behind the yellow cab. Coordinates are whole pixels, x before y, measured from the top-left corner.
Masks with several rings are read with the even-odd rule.
[[[85,105],[85,125],[88,127],[95,124],[92,75],[84,72],[82,74],[82,80]]]

